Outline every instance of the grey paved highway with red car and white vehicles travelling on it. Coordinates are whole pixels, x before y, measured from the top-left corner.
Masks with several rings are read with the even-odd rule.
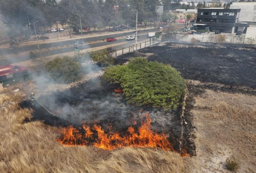
[[[144,34],[138,37],[138,42],[147,40],[145,33],[152,32],[155,30],[156,29],[140,31],[139,33],[144,33]],[[135,40],[127,41],[125,39],[126,35],[129,35],[129,33],[116,33],[114,35],[112,34],[112,35],[84,38],[85,44],[79,45],[79,49],[83,50],[83,49],[89,49],[94,47],[103,47],[103,46],[106,47],[107,45],[109,45],[109,47],[119,50],[122,47],[128,47],[130,45],[135,44]],[[117,40],[115,42],[106,42],[105,39],[107,37],[117,37]],[[118,38],[118,37],[122,37],[122,38]],[[103,39],[104,41],[102,41]],[[78,39],[77,41],[80,43],[82,42],[81,39]],[[74,51],[73,42],[74,40],[66,40],[66,41],[53,42],[53,43],[47,43],[47,44],[40,44],[40,49],[42,49],[42,51],[40,51],[41,56],[45,57],[45,56],[52,56],[52,55],[72,52]],[[116,45],[118,43],[120,44]],[[114,44],[114,46],[111,46],[111,44]],[[18,63],[21,61],[30,60],[29,51],[38,51],[37,45],[17,47],[15,49],[10,49],[10,48],[0,49],[0,65],[6,65],[9,63]],[[36,52],[35,54],[37,58],[40,57],[39,52]]]

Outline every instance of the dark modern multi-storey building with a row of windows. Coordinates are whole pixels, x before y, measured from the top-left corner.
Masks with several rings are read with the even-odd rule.
[[[211,31],[236,33],[238,27],[247,27],[247,23],[239,23],[240,9],[203,8],[198,9],[197,20],[193,26],[209,27]]]

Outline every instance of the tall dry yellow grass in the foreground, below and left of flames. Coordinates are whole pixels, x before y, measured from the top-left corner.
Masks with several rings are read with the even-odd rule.
[[[0,94],[1,103],[20,101],[24,94]],[[31,110],[17,103],[0,110],[1,172],[182,172],[179,154],[148,148],[125,147],[105,151],[95,147],[66,147],[57,143],[57,128],[42,122],[23,123]]]

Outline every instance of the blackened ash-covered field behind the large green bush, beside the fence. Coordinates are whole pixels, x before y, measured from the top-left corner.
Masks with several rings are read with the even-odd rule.
[[[256,89],[255,46],[167,43],[119,56],[116,63],[127,62],[135,56],[147,56],[149,61],[170,64],[185,79]]]

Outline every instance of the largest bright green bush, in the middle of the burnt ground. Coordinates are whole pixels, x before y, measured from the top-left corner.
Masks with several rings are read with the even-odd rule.
[[[185,81],[171,65],[134,58],[127,65],[110,66],[104,79],[120,84],[126,101],[134,105],[176,109],[185,95]]]

